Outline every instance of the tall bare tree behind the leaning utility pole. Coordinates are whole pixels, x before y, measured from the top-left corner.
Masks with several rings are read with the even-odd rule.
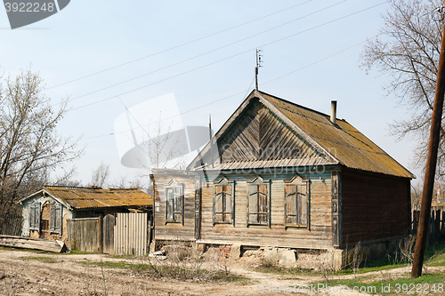
[[[443,16],[441,0],[391,0],[391,10],[383,16],[381,36],[371,40],[361,54],[361,66],[377,68],[390,76],[384,88],[409,109],[409,119],[390,125],[399,139],[417,140],[415,164],[425,166],[433,114],[437,65],[441,50]],[[442,119],[443,121],[443,119]],[[441,130],[438,156],[439,176],[445,175],[445,131]]]

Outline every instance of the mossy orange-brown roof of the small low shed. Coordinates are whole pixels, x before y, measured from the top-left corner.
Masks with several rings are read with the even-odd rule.
[[[44,186],[20,199],[20,203],[39,194],[52,196],[70,210],[120,208],[153,205],[153,197],[139,189],[96,189]]]

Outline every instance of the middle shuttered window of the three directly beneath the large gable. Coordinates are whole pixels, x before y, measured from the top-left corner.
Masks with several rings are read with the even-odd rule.
[[[247,225],[271,226],[270,181],[256,176],[247,187]]]

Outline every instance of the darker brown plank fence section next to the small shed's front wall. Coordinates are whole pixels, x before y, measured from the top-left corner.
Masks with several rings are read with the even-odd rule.
[[[102,252],[101,217],[69,219],[67,228],[69,249]]]

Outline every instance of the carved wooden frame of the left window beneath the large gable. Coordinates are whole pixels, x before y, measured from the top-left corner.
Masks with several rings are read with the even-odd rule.
[[[227,190],[227,187],[231,186],[231,189]],[[222,195],[222,212],[216,212],[216,200],[217,200],[217,193],[216,188],[222,187],[221,195]],[[224,188],[226,188],[224,190]],[[229,204],[231,204],[231,211],[227,212],[225,211],[227,209],[226,205],[227,203],[227,197],[231,196],[231,201]],[[216,216],[218,214],[221,214],[223,220],[216,220]],[[226,215],[230,214],[231,219],[225,220]],[[213,198],[213,222],[214,224],[232,224],[235,226],[235,181],[234,180],[227,180],[227,178],[223,177],[218,180],[214,180],[214,198]]]

